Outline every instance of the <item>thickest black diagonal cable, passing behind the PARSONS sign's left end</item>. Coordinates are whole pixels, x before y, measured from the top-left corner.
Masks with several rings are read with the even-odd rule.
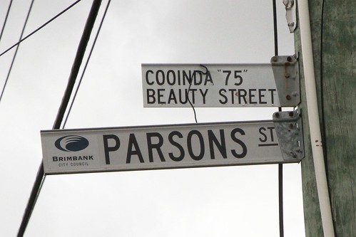
[[[68,105],[68,100],[71,97],[71,92],[73,90],[73,85],[76,80],[76,75],[78,75],[78,70],[81,65],[81,61],[83,60],[83,55],[86,50],[86,45],[88,44],[89,36],[93,28],[93,24],[96,20],[96,15],[98,14],[100,5],[101,5],[101,0],[93,0],[91,11],[86,21],[86,26],[84,27],[84,31],[81,36],[81,41],[79,43],[78,50],[76,52],[76,58],[74,59],[73,62],[71,75],[69,75],[67,88],[63,95],[63,100],[61,102],[61,106],[59,107],[59,112],[54,122],[54,126],[53,126],[54,130],[58,130],[61,127],[61,121],[63,120],[64,111],[66,110],[66,107]],[[25,213],[21,221],[21,226],[17,234],[18,237],[24,236],[27,224],[29,223],[29,220],[31,218],[32,211],[34,210],[34,206],[36,205],[36,201],[41,191],[41,187],[44,184],[45,178],[46,175],[44,174],[44,163],[41,162],[41,165],[39,167],[39,172],[37,172],[36,180],[34,182],[34,186],[32,187],[31,194],[29,197],[29,202],[27,203]]]

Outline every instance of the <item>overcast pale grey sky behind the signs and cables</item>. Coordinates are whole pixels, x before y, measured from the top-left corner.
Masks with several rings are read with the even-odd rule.
[[[31,1],[14,1],[0,52]],[[25,35],[73,1],[35,0]],[[0,102],[0,236],[16,236],[92,1],[21,43]],[[103,0],[98,23],[107,4]],[[0,0],[0,23],[9,0]],[[279,54],[293,34],[278,1]],[[0,57],[4,84],[14,50]],[[66,128],[182,124],[191,108],[143,108],[141,63],[268,63],[272,1],[112,1]],[[86,58],[85,58],[86,59]],[[270,120],[276,108],[196,108],[198,122]],[[304,236],[300,164],[284,166],[285,236]],[[48,176],[25,236],[278,236],[278,165]]]

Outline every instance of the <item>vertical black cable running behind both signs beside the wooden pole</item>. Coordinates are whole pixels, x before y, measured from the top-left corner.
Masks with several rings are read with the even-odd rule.
[[[278,56],[278,24],[277,24],[277,6],[275,0],[273,2],[273,29],[275,41],[275,56]],[[278,111],[282,111],[282,107],[278,107]],[[283,222],[283,164],[278,164],[278,207],[279,207],[279,226],[280,237],[284,236]]]

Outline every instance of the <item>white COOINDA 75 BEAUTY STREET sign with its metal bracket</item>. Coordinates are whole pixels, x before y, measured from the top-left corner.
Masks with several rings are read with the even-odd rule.
[[[264,64],[142,64],[144,107],[295,107],[297,59]]]

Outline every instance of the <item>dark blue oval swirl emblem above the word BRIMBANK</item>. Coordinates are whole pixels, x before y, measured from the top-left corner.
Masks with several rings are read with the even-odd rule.
[[[81,136],[68,135],[57,139],[54,145],[63,152],[78,152],[86,149],[89,141]]]

